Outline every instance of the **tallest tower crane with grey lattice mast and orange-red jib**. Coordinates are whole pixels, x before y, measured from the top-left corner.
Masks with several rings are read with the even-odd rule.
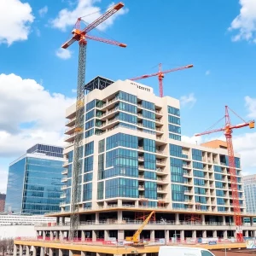
[[[126,44],[117,41],[97,38],[88,35],[88,32],[99,26],[103,21],[107,20],[110,16],[115,14],[119,9],[124,7],[124,3],[117,3],[113,5],[107,12],[90,23],[84,29],[80,28],[82,18],[79,18],[72,31],[73,37],[70,38],[65,44],[62,44],[63,49],[67,49],[74,42],[79,42],[79,72],[78,72],[78,88],[77,88],[77,102],[76,102],[76,119],[75,119],[75,137],[73,149],[73,175],[72,175],[72,194],[71,194],[71,216],[70,216],[70,232],[69,238],[73,240],[78,235],[79,225],[79,172],[81,172],[82,164],[80,158],[79,148],[82,146],[84,135],[84,82],[85,82],[85,60],[86,60],[86,45],[87,39],[99,41],[106,44],[113,44],[120,47],[126,47]]]

